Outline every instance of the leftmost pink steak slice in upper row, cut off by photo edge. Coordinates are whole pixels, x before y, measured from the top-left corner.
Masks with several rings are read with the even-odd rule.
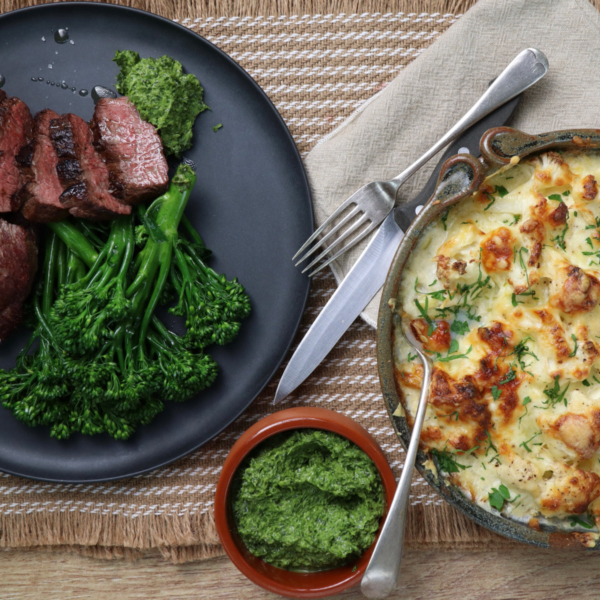
[[[0,212],[19,209],[23,179],[15,157],[31,136],[31,112],[19,98],[0,101]]]

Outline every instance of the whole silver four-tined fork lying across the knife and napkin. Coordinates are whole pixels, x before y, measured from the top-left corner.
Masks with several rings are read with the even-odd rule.
[[[473,107],[458,121],[454,127],[431,148],[418,158],[407,169],[389,181],[372,181],[355,191],[347,200],[331,214],[314,233],[302,244],[292,260],[298,259],[296,266],[313,257],[310,263],[302,269],[306,272],[317,265],[320,260],[335,250],[342,242],[346,242],[339,250],[328,257],[309,273],[309,277],[320,271],[326,265],[337,259],[346,250],[361,241],[368,233],[373,231],[394,208],[396,194],[400,186],[414,173],[416,173],[428,160],[434,157],[444,146],[460,136],[479,119],[491,113],[497,107],[511,100],[536,81],[541,79],[548,70],[548,60],[544,53],[535,48],[527,48],[520,52],[491,83],[484,94]],[[363,227],[366,224],[366,227]],[[342,227],[348,225],[336,236]],[[322,238],[319,236],[331,227]],[[363,227],[361,229],[361,227]],[[352,234],[356,233],[352,237]],[[334,237],[335,236],[335,237]],[[314,257],[314,254],[326,242],[331,243]]]

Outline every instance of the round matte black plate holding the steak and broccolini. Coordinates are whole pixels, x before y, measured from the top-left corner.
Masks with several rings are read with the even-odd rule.
[[[59,28],[68,28],[67,43],[56,43]],[[112,88],[118,73],[112,58],[125,49],[181,61],[200,80],[211,107],[197,119],[186,154],[199,174],[187,214],[214,251],[211,266],[238,277],[253,305],[238,338],[212,352],[220,365],[215,385],[187,403],[166,406],[127,442],[104,435],[59,442],[46,428],[26,427],[0,409],[5,473],[64,482],[137,475],[212,439],[251,404],[286,355],[309,287],[292,263],[313,230],[304,167],[262,89],[229,56],[181,25],[132,8],[69,2],[5,13],[0,31],[4,90],[32,113],[51,108],[91,118],[94,101],[80,90]],[[15,335],[0,347],[0,367],[14,364],[25,339]]]

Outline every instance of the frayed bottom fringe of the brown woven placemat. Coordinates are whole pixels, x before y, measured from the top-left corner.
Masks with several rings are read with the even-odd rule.
[[[415,505],[406,522],[407,548],[481,550],[517,542],[479,527],[451,506]],[[73,521],[77,521],[74,526]],[[140,521],[143,525],[140,526]],[[77,536],[73,532],[77,531]],[[38,542],[44,539],[46,543]],[[199,540],[202,539],[202,544]],[[107,516],[99,521],[77,512],[0,515],[0,546],[19,550],[63,550],[104,560],[137,560],[149,551],[182,564],[223,556],[212,511],[173,520],[166,515]]]

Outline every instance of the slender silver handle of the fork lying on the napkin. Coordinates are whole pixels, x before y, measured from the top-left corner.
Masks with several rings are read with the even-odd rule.
[[[536,48],[527,48],[520,52],[511,61],[508,67],[494,79],[490,87],[476,101],[471,109],[458,121],[454,127],[431,146],[431,148],[418,158],[407,169],[395,176],[392,181],[400,187],[411,175],[421,169],[432,157],[434,157],[444,146],[460,136],[471,125],[479,119],[491,113],[494,109],[501,106],[511,98],[514,98],[536,81],[541,79],[548,70],[548,59],[544,53]]]

